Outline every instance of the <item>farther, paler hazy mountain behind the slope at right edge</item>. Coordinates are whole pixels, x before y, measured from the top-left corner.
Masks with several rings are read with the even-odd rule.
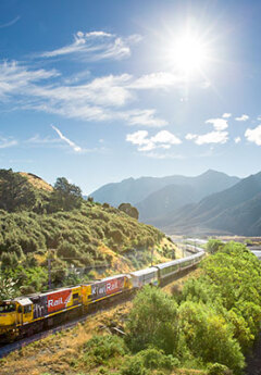
[[[173,210],[187,203],[196,203],[200,199],[229,188],[239,178],[209,170],[196,177],[141,177],[129,178],[119,184],[108,184],[90,196],[101,203],[108,202],[117,207],[121,202],[129,202],[138,208],[140,220],[146,223],[167,215]]]

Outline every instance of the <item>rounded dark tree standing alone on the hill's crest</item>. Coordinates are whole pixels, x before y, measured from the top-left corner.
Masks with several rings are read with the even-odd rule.
[[[50,199],[50,211],[71,211],[79,209],[83,201],[78,186],[70,184],[65,177],[59,177]]]

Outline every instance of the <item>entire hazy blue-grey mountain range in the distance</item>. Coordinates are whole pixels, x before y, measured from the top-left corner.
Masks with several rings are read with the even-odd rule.
[[[167,234],[261,235],[261,173],[244,179],[212,170],[196,177],[128,178],[91,196],[112,205],[129,202],[140,221]]]

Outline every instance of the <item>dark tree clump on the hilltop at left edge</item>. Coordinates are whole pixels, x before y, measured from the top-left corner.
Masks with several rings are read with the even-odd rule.
[[[32,210],[36,200],[26,177],[12,170],[0,170],[0,209],[9,212]]]

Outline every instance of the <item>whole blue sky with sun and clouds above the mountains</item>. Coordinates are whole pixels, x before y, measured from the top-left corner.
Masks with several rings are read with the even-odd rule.
[[[85,193],[259,172],[260,35],[252,0],[1,0],[1,167]]]

